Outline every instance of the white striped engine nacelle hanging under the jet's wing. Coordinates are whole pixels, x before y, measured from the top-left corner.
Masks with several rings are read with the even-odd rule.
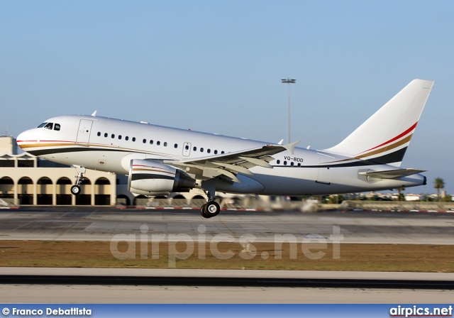
[[[150,160],[133,159],[129,166],[128,190],[143,195],[167,195],[187,192],[196,180],[170,165]]]

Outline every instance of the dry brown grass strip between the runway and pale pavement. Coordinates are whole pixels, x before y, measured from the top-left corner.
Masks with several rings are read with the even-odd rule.
[[[454,272],[454,246],[0,241],[0,266]],[[336,257],[338,255],[339,257]]]

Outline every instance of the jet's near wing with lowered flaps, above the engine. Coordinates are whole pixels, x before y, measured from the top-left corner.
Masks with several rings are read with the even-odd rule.
[[[253,175],[250,168],[260,166],[272,169],[270,162],[275,160],[272,155],[288,150],[293,154],[294,147],[299,143],[288,143],[287,145],[265,145],[260,148],[240,150],[234,153],[223,153],[221,155],[211,155],[199,158],[185,158],[182,160],[164,160],[164,163],[174,165],[179,168],[196,168],[199,170],[197,177],[206,179],[222,175],[228,177],[233,182],[240,182],[236,174],[238,172],[245,175]]]

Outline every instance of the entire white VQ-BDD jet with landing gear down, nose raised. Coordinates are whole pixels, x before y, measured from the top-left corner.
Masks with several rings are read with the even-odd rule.
[[[19,134],[18,146],[77,168],[128,175],[145,196],[204,190],[204,218],[221,207],[215,192],[314,196],[426,185],[426,170],[400,168],[433,81],[414,79],[332,148],[296,148],[213,133],[96,116],[57,116]]]

